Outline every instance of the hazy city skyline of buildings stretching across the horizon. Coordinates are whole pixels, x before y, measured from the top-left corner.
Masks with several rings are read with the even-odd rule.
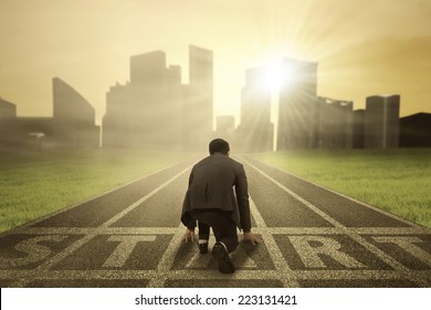
[[[181,83],[181,66],[169,65],[164,51],[132,55],[129,81],[106,93],[102,126],[96,125],[92,104],[53,78],[52,118],[20,117],[13,103],[0,99],[0,149],[201,151],[216,136],[229,138],[240,152],[431,145],[427,125],[431,114],[418,113],[400,122],[399,94],[367,96],[366,110],[354,111],[351,101],[317,95],[318,63],[283,59],[278,65],[277,72],[246,70],[240,125],[235,128],[234,116],[217,116],[232,118],[217,122],[216,131],[213,51],[208,49],[189,45],[189,84]],[[272,87],[275,83],[277,87]],[[277,120],[272,122],[274,103]],[[414,123],[416,118],[421,121]]]

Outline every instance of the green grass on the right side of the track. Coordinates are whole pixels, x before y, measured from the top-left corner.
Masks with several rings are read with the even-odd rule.
[[[431,148],[286,151],[254,157],[431,227]]]

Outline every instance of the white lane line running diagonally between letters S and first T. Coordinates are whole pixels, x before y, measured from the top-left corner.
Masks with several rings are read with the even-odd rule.
[[[123,211],[118,213],[116,216],[112,217],[111,219],[108,219],[107,221],[102,224],[99,227],[94,229],[91,234],[84,236],[83,238],[78,239],[77,241],[73,242],[72,245],[70,245],[69,247],[63,249],[61,252],[59,252],[55,256],[53,256],[52,258],[48,259],[45,262],[38,266],[38,268],[31,270],[31,272],[30,272],[31,277],[23,278],[23,279],[15,281],[14,283],[12,283],[12,287],[23,287],[23,286],[28,285],[29,282],[31,282],[34,273],[44,272],[45,270],[53,267],[55,264],[60,262],[61,260],[63,260],[64,258],[70,256],[76,249],[81,248],[83,245],[85,245],[91,239],[93,239],[96,235],[98,235],[98,231],[103,231],[103,229],[106,229],[112,224],[116,223],[118,219],[120,219],[126,214],[128,214],[129,211],[132,211],[133,209],[138,207],[140,204],[143,204],[145,200],[147,200],[148,198],[150,198],[151,196],[154,196],[155,194],[160,192],[162,188],[165,188],[166,186],[171,184],[174,180],[176,180],[178,177],[180,177],[182,174],[185,174],[189,169],[190,169],[190,166],[187,167],[186,169],[181,170],[180,173],[178,173],[177,175],[175,175],[174,177],[171,177],[170,179],[168,179],[167,182],[165,182],[164,184],[161,184],[160,186],[158,186],[154,190],[151,190],[149,194],[145,195],[139,200],[135,202],[134,204],[132,204],[130,206],[125,208]]]

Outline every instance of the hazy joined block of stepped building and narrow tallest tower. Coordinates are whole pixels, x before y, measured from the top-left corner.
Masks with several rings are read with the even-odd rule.
[[[211,51],[190,46],[189,80],[181,84],[181,68],[168,66],[162,51],[132,56],[130,82],[106,94],[103,146],[206,149],[213,132]]]

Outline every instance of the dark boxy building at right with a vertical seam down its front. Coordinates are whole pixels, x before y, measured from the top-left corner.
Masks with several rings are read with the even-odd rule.
[[[399,146],[400,95],[374,95],[366,100],[365,147]]]

